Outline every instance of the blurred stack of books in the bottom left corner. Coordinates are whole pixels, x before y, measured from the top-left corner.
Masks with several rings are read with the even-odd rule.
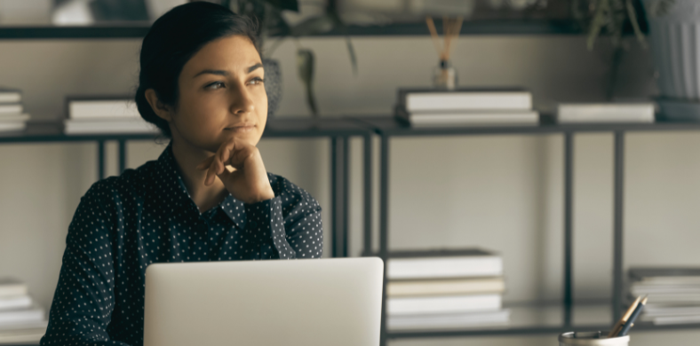
[[[46,326],[44,309],[28,295],[27,285],[0,279],[0,344],[38,343]]]

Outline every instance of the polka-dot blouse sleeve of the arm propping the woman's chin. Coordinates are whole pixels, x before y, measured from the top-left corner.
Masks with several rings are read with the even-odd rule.
[[[249,232],[262,233],[259,258],[321,258],[321,206],[310,194],[282,193],[271,200],[246,205]]]

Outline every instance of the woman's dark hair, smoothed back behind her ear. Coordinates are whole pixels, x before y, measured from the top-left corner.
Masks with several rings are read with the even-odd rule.
[[[247,36],[260,52],[256,30],[256,24],[248,17],[207,2],[179,5],[155,20],[141,45],[136,90],[136,106],[141,117],[171,138],[168,122],[148,104],[146,90],[155,90],[160,102],[177,109],[179,74],[187,61],[205,44],[230,35]]]

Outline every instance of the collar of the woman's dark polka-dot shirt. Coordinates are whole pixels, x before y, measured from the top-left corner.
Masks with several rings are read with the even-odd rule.
[[[158,161],[156,161],[155,173],[150,176],[153,178],[153,191],[155,192],[156,201],[164,203],[165,210],[174,212],[196,212],[200,214],[195,201],[187,193],[187,186],[179,172],[179,166],[175,161],[175,156],[172,154],[172,142],[163,150]],[[219,206],[215,208],[222,209],[226,215],[242,230],[245,229],[245,205],[243,201],[236,200],[230,193]]]

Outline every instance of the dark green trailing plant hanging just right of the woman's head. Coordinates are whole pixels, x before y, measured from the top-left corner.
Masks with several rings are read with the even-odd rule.
[[[227,4],[228,1],[224,3]],[[260,45],[270,37],[275,37],[269,51],[263,51],[266,56],[272,55],[282,41],[291,37],[297,44],[298,75],[306,89],[306,104],[311,113],[318,116],[318,106],[314,96],[314,51],[304,48],[298,38],[306,35],[324,34],[336,30],[340,34],[346,34],[347,27],[335,8],[334,2],[330,2],[325,11],[318,16],[303,20],[297,25],[290,26],[282,16],[283,11],[298,12],[298,0],[238,0],[233,10],[239,14],[249,16],[259,22]],[[350,62],[353,74],[357,75],[357,58],[354,53],[350,36],[346,35],[347,51],[350,54]]]

